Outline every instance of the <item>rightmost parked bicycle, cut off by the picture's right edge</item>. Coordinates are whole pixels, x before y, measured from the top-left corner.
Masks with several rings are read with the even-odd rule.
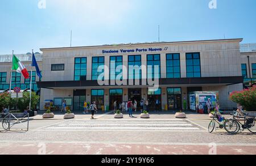
[[[240,116],[237,113],[233,114],[233,118],[230,119],[232,120],[232,123],[229,124],[230,125],[229,127],[232,127],[233,124],[238,124],[238,129],[236,130],[236,132],[231,134],[237,134],[239,131],[243,131],[245,129],[249,130],[253,134],[256,133],[256,125],[255,125],[256,118],[248,116],[248,113],[243,113],[243,114],[244,116]],[[243,124],[242,122],[240,122],[240,118],[243,119]],[[228,133],[230,133],[228,128],[226,128],[225,130],[228,131]]]

